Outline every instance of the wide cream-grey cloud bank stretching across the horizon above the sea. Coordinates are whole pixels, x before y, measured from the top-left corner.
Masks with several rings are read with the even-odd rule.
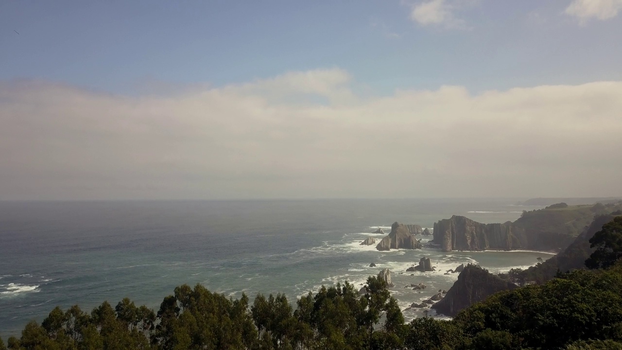
[[[622,194],[622,82],[361,98],[340,69],[170,96],[0,83],[0,199]]]

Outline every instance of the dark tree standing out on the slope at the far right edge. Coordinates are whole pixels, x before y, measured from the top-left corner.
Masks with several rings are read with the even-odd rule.
[[[615,217],[590,239],[595,252],[585,260],[588,268],[610,268],[622,258],[622,216]]]

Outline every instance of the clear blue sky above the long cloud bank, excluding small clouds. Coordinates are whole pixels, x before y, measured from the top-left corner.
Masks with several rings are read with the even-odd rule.
[[[0,79],[128,93],[339,67],[387,94],[622,78],[621,16],[581,24],[564,12],[569,0],[446,0],[452,27],[414,21],[422,3],[7,0]]]

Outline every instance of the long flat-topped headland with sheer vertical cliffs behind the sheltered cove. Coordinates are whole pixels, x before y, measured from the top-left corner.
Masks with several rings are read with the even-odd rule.
[[[567,247],[574,237],[562,232],[540,232],[517,222],[481,224],[453,215],[434,224],[434,239],[444,252],[452,250],[537,249]]]

